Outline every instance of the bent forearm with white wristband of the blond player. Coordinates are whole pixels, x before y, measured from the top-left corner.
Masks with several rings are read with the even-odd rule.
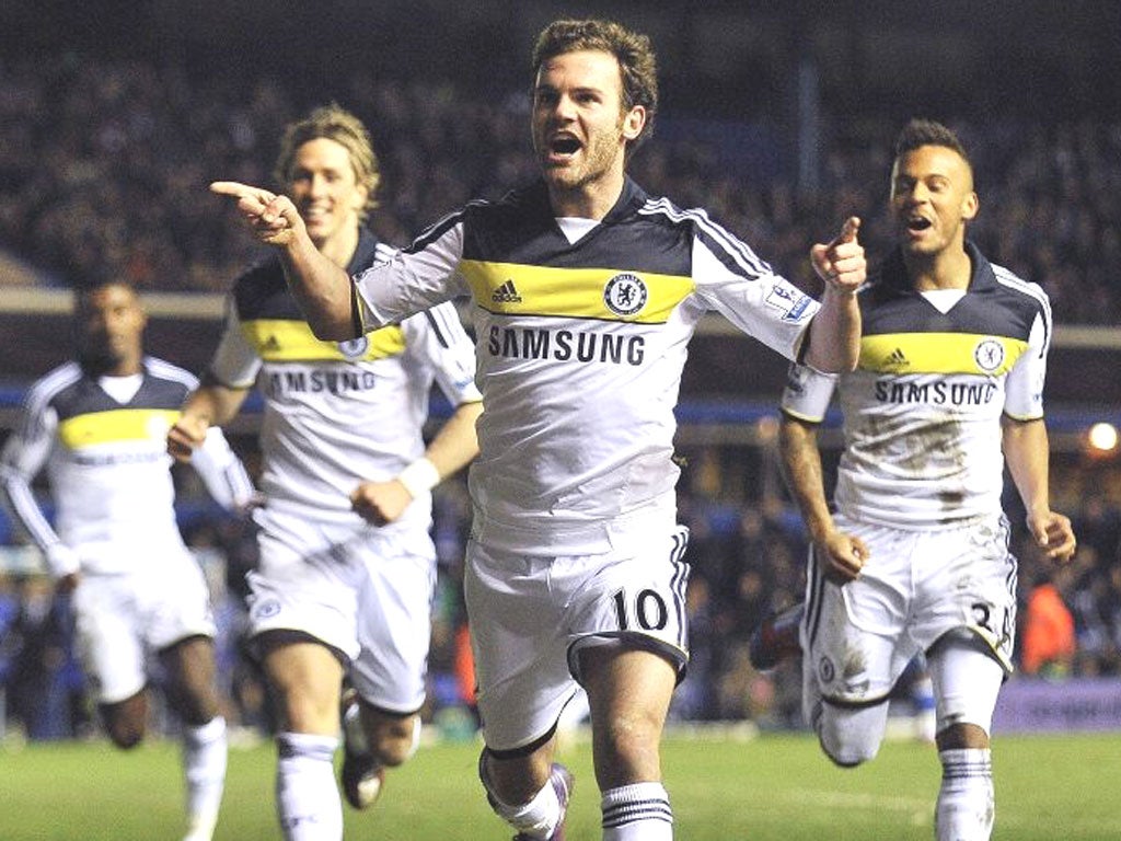
[[[362,482],[351,493],[351,505],[363,519],[383,526],[400,517],[416,497],[458,472],[479,454],[475,422],[481,401],[455,409],[432,440],[425,454],[388,482]]]

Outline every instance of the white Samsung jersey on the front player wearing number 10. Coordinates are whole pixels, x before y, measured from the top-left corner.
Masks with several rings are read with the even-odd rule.
[[[793,359],[818,308],[703,211],[630,179],[575,241],[538,183],[469,204],[356,284],[367,324],[472,297],[474,534],[529,554],[603,552],[675,516],[674,407],[704,313]]]

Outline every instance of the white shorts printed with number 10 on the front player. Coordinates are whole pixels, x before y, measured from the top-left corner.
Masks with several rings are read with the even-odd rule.
[[[688,529],[632,534],[605,554],[536,556],[467,543],[464,594],[490,750],[552,733],[578,688],[578,651],[646,648],[684,674]]]

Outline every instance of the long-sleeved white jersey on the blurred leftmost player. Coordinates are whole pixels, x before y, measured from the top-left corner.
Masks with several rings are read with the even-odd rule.
[[[197,380],[150,357],[128,399],[114,396],[113,380],[120,379],[91,378],[76,362],[50,371],[28,390],[20,424],[0,456],[16,519],[45,552],[59,540],[70,547],[85,572],[129,572],[184,551],[167,433]],[[248,502],[249,477],[220,429],[207,435],[203,450],[192,464],[212,496],[226,506]],[[31,488],[44,466],[54,526]]]

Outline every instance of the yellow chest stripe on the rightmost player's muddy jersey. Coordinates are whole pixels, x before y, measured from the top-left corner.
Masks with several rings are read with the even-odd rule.
[[[879,373],[974,373],[999,377],[1027,342],[973,333],[884,333],[860,341],[860,368]]]

